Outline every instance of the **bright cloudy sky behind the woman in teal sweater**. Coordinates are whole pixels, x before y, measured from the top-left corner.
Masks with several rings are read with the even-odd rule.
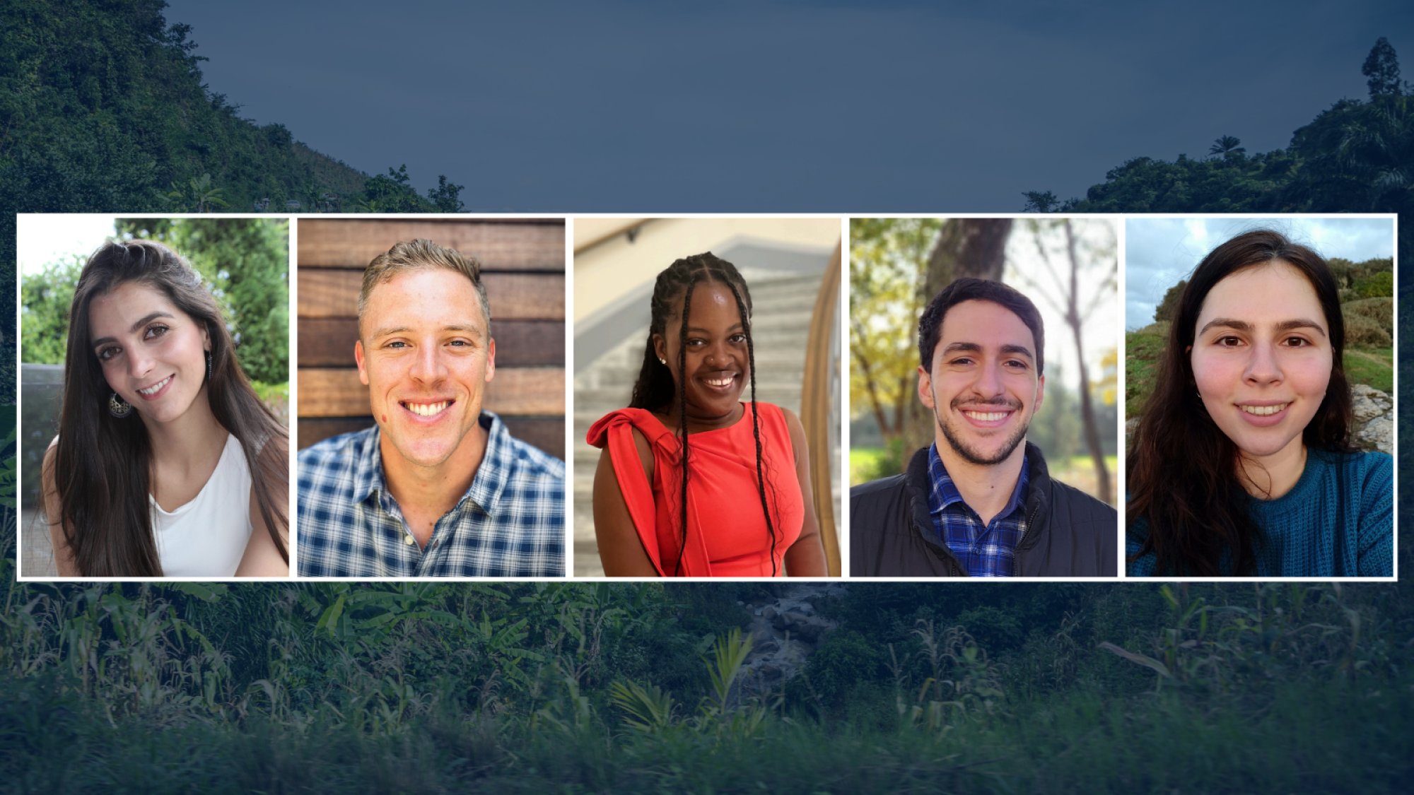
[[[1169,287],[1208,252],[1250,229],[1275,229],[1324,257],[1365,262],[1394,256],[1387,218],[1130,218],[1124,224],[1124,327],[1154,323]]]

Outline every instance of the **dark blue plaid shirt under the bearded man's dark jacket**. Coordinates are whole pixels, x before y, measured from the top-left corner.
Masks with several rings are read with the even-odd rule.
[[[971,577],[1011,577],[1017,543],[1027,533],[1027,458],[1021,458],[1021,477],[1011,499],[988,525],[963,502],[963,495],[947,475],[937,444],[928,448],[928,477],[933,489],[928,492],[928,509],[933,515],[933,529],[953,550],[957,562]]]

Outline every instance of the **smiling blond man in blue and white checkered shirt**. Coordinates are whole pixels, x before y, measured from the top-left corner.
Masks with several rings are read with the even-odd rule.
[[[375,424],[298,454],[300,576],[564,574],[564,461],[485,410],[491,321],[472,256],[414,239],[368,265],[354,358]]]

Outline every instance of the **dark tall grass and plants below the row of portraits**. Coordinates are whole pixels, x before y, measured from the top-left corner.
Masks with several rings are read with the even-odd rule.
[[[923,618],[853,687],[812,662],[792,687],[813,700],[747,682],[751,638],[684,631],[704,610],[656,584],[0,588],[4,791],[1397,792],[1414,772],[1393,587],[1107,587],[1001,655]]]

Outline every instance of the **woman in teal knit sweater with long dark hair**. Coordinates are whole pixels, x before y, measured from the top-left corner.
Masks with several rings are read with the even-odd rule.
[[[1389,577],[1394,460],[1352,446],[1338,283],[1271,231],[1198,265],[1130,440],[1127,574]]]

